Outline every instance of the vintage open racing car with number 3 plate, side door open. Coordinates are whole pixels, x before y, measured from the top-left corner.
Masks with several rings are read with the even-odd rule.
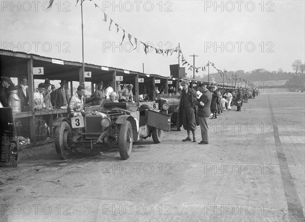
[[[62,160],[73,153],[117,146],[121,159],[127,160],[133,142],[150,136],[155,143],[162,141],[163,131],[170,131],[170,116],[147,105],[106,103],[84,117],[57,118],[53,126],[56,152]]]

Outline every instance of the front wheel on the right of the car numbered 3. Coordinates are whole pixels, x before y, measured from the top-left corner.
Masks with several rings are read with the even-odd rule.
[[[130,121],[125,121],[120,126],[118,136],[118,152],[122,160],[127,160],[132,151],[132,125]]]

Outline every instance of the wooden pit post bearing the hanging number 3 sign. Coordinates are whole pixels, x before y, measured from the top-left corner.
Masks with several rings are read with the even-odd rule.
[[[35,92],[35,85],[34,85],[34,76],[33,76],[33,58],[27,60],[27,81],[29,86],[29,93],[28,93],[28,105],[29,110],[33,113],[33,116],[29,117],[29,129],[30,129],[30,139],[31,143],[36,142],[35,138],[35,111],[34,111],[34,92]]]

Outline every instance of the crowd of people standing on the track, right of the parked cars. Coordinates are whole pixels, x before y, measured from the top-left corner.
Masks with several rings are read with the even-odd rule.
[[[236,111],[241,111],[243,103],[248,103],[248,98],[255,99],[258,90],[248,91],[247,88],[237,88],[224,92],[220,88],[207,88],[205,83],[199,83],[197,91],[189,87],[189,81],[181,82],[181,98],[177,114],[177,129],[181,126],[187,131],[187,138],[182,141],[196,142],[196,126],[200,125],[201,138],[199,144],[208,144],[207,119],[216,119],[225,110],[232,110],[233,105]],[[192,139],[193,138],[193,139]]]

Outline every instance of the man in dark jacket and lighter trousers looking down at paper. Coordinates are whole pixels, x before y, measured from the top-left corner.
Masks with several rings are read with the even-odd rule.
[[[200,129],[201,129],[201,137],[202,140],[199,144],[208,144],[208,126],[207,126],[207,119],[211,113],[211,100],[212,94],[206,88],[205,83],[199,83],[198,90],[202,92],[201,97],[195,104],[198,106],[197,116],[200,122]]]

